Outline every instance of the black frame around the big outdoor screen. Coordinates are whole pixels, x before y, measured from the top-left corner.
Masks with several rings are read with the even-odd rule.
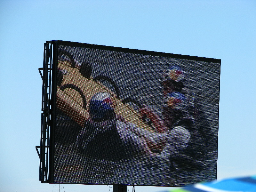
[[[92,48],[92,49],[99,49],[99,50],[109,50],[115,52],[124,52],[124,53],[136,53],[136,54],[143,54],[143,55],[152,55],[152,56],[161,56],[161,57],[169,57],[169,58],[176,58],[176,59],[184,59],[184,60],[195,60],[195,61],[205,61],[205,62],[214,62],[220,64],[220,59],[213,59],[213,58],[205,58],[205,57],[197,57],[197,56],[188,56],[188,55],[180,55],[180,54],[172,54],[172,53],[165,53],[165,52],[154,52],[154,51],[145,51],[145,50],[137,50],[137,49],[128,49],[128,48],[121,48],[121,47],[112,47],[112,46],[104,46],[104,45],[96,45],[96,44],[86,44],[86,43],[77,43],[77,42],[69,42],[69,41],[61,41],[61,40],[54,40],[54,41],[46,41],[46,44],[53,45],[52,51],[52,84],[51,84],[51,121],[50,123],[50,144],[49,144],[49,172],[48,172],[48,179],[44,181],[44,183],[54,183],[53,181],[53,169],[54,169],[54,129],[55,129],[55,115],[56,115],[56,92],[57,92],[57,65],[58,65],[58,47],[59,45],[67,45],[67,46],[77,46],[77,47],[85,47],[85,48]],[[220,74],[219,74],[220,75]],[[220,82],[219,82],[220,84]],[[219,89],[220,92],[220,89]],[[219,109],[218,109],[219,110]],[[219,120],[219,116],[218,116]],[[217,171],[217,168],[216,168]],[[216,179],[217,179],[217,172],[216,172]],[[70,183],[68,183],[70,184]],[[92,185],[89,183],[81,183],[85,185]],[[95,183],[95,185],[97,185]],[[102,185],[102,184],[100,184]],[[113,185],[113,183],[108,183],[107,185]],[[138,185],[140,186],[140,185]],[[148,186],[148,185],[142,185]],[[150,186],[150,185],[149,185]],[[158,185],[157,185],[158,186]],[[173,187],[173,186],[162,186],[162,187]],[[177,186],[174,186],[177,187]]]

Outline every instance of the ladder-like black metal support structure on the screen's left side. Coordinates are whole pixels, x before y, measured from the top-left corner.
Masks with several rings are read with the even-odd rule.
[[[41,141],[40,146],[36,146],[37,154],[40,158],[39,180],[42,183],[48,180],[48,160],[49,160],[49,131],[50,131],[50,110],[51,110],[51,78],[52,78],[52,44],[44,44],[44,66],[38,68],[43,80],[42,87],[42,111],[41,114]],[[43,73],[41,72],[43,71]],[[40,148],[40,153],[38,151]]]

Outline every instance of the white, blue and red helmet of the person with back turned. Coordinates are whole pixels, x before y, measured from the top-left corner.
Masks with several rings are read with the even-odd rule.
[[[94,121],[104,121],[115,116],[113,96],[107,92],[95,93],[92,96],[89,114]]]

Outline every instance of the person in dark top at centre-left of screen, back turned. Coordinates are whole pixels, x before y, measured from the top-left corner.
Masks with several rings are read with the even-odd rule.
[[[88,155],[103,159],[122,159],[150,153],[145,140],[130,130],[130,126],[114,111],[111,94],[93,95],[89,119],[79,132],[76,146]]]

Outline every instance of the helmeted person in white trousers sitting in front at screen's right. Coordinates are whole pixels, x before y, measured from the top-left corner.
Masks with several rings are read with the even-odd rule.
[[[163,120],[158,119],[153,113],[150,114],[153,124],[157,124],[158,130],[161,132],[153,133],[135,125],[131,126],[131,131],[143,138],[149,148],[152,149],[153,147],[151,145],[154,144],[158,145],[158,148],[162,148],[162,152],[152,150],[152,152],[159,153],[158,156],[170,156],[184,151],[191,138],[189,130],[194,121],[192,117],[179,117],[180,112],[177,111],[186,104],[186,101],[186,96],[181,92],[168,93],[164,98],[165,106],[162,111]],[[151,112],[150,109],[146,107],[140,111],[143,112],[143,114]]]

